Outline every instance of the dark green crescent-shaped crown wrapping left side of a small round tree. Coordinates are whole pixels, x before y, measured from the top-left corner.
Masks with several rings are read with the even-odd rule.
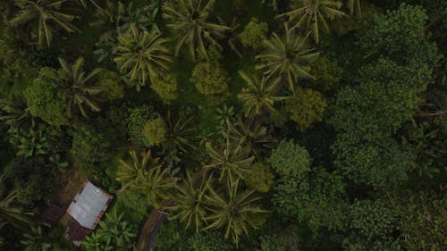
[[[148,146],[148,139],[143,134],[147,121],[156,119],[154,107],[142,105],[128,110],[129,115],[125,119],[129,141],[137,146]]]

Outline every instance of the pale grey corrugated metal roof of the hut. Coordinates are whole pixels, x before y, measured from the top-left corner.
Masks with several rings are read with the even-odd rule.
[[[67,213],[81,226],[94,230],[113,197],[95,187],[89,180],[84,183],[83,187],[73,198]]]

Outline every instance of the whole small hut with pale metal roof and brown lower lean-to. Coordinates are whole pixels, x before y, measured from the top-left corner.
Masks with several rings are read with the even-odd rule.
[[[65,238],[80,246],[87,235],[95,229],[113,198],[86,180],[67,209],[72,221],[65,232]]]

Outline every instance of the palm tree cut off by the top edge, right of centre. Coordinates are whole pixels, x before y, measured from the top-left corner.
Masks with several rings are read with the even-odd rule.
[[[345,13],[339,11],[342,2],[333,0],[299,0],[293,2],[293,10],[288,13],[277,15],[277,18],[288,16],[289,21],[296,21],[291,29],[301,28],[310,30],[316,43],[320,41],[320,27],[325,32],[329,32],[329,25],[326,20],[333,21],[335,17],[344,16]]]

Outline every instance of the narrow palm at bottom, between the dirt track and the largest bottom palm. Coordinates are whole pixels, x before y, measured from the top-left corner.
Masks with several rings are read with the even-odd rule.
[[[176,204],[170,209],[173,211],[173,219],[179,219],[180,222],[186,223],[185,229],[194,227],[198,232],[205,222],[206,216],[204,206],[206,183],[202,177],[200,186],[197,186],[196,181],[191,178],[190,172],[186,174],[187,178],[183,180],[183,184],[176,187],[174,196]]]

